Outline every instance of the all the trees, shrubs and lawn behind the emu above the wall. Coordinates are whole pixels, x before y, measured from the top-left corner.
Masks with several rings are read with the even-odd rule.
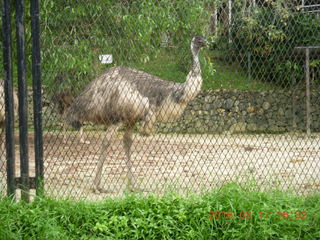
[[[288,86],[293,77],[301,81],[304,57],[293,49],[320,45],[319,18],[299,10],[295,1],[258,2],[252,7],[251,1],[233,1],[229,26],[226,0],[42,0],[44,85],[49,92],[79,91],[110,67],[98,59],[107,53],[113,54],[113,65],[134,66],[182,82],[191,64],[189,44],[195,34],[205,35],[210,42],[201,55],[204,88],[270,89]],[[213,26],[216,6],[217,35]],[[30,54],[28,3],[25,22]],[[12,23],[14,33],[14,16]],[[312,59],[317,80],[319,54],[312,53]],[[28,69],[30,62],[28,55]]]

